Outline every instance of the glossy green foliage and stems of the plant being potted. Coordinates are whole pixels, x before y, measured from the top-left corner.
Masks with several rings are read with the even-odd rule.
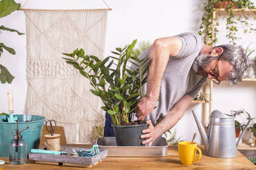
[[[136,104],[142,97],[140,85],[142,80],[146,79],[140,77],[139,69],[144,67],[142,62],[145,65],[148,63],[136,57],[131,58],[131,51],[135,44],[136,40],[123,49],[116,48],[113,52],[118,56],[109,56],[104,60],[92,55],[84,56],[82,49],[76,49],[73,53],[63,53],[70,57],[63,58],[67,64],[72,64],[83,76],[87,77],[94,88],[91,92],[103,101],[105,106],[102,109],[111,114],[114,125],[121,125],[122,122],[129,123],[131,121],[129,118],[131,114],[134,114]],[[109,58],[113,60],[109,62]],[[130,61],[137,64],[138,69],[127,66],[127,62]],[[146,67],[143,69],[145,70]]]

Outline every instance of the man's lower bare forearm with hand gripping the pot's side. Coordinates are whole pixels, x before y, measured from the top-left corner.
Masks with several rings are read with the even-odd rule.
[[[168,114],[164,117],[164,119],[153,127],[151,121],[148,120],[149,127],[147,130],[142,131],[141,138],[147,138],[147,140],[142,143],[149,143],[149,146],[152,145],[153,141],[156,140],[159,136],[161,136],[164,132],[171,129],[184,115],[184,112],[191,104],[193,98],[189,95],[184,95],[168,112]]]

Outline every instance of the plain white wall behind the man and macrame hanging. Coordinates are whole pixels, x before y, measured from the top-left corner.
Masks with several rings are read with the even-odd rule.
[[[100,0],[17,0],[23,8],[40,9],[83,9],[83,8],[106,8]],[[173,36],[182,32],[198,32],[198,25],[202,12],[199,10],[201,0],[106,0],[113,9],[109,12],[107,21],[107,36],[105,56],[116,47],[123,47],[134,39],[138,42],[156,38]],[[25,16],[23,12],[14,12],[10,16],[1,19],[6,27],[25,32]],[[0,63],[6,66],[15,76],[12,84],[0,85],[0,112],[8,110],[7,90],[14,93],[14,112],[22,114],[25,110],[28,82],[26,77],[26,38],[25,35],[17,36],[15,33],[1,32],[0,42],[13,47],[17,55],[12,56],[6,51],[0,58]],[[237,110],[246,108],[249,112],[255,112],[256,88],[253,82],[243,82],[238,88],[229,88],[225,83],[220,87],[214,86],[213,109]],[[242,99],[242,100],[240,100]],[[192,104],[184,117],[175,126],[177,136],[190,139],[193,132],[198,132],[191,110],[198,110],[202,114],[202,104]],[[255,115],[255,114],[254,114]],[[198,132],[199,134],[199,132]],[[200,135],[196,141],[200,142]]]

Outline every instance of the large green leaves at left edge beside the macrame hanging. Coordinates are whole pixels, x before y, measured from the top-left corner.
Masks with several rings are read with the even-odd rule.
[[[14,0],[2,0],[0,1],[0,18],[4,16],[10,15],[15,10],[19,10],[21,8],[21,3],[15,3]],[[15,29],[10,29],[8,27],[5,27],[3,25],[0,26],[0,30],[3,31],[9,31],[9,32],[17,32],[18,35],[23,35],[24,33],[18,32]],[[3,53],[3,49],[8,51],[11,54],[15,54],[15,50],[11,47],[7,47],[3,44],[3,42],[0,42],[0,57]],[[4,84],[8,82],[9,84],[12,83],[12,80],[14,79],[14,76],[6,69],[6,66],[3,66],[0,64],[0,82],[1,84]]]

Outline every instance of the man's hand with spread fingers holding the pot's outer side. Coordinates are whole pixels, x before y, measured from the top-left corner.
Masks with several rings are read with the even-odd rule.
[[[145,145],[146,143],[148,146],[151,146],[153,141],[160,136],[157,132],[155,127],[153,127],[151,120],[147,120],[147,123],[149,124],[146,130],[142,130],[142,135],[140,138],[147,138],[145,141],[142,141],[142,144]]]

